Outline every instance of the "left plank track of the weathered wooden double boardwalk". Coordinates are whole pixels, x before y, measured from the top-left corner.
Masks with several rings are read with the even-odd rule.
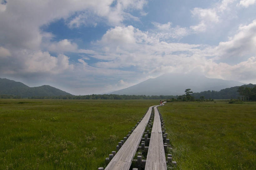
[[[152,107],[154,106],[149,107],[148,112],[144,118],[133,130],[132,134],[128,137],[123,146],[118,150],[114,158],[108,163],[108,166],[105,168],[105,170],[128,170],[130,168],[133,157],[137,151],[138,145],[150,119]]]

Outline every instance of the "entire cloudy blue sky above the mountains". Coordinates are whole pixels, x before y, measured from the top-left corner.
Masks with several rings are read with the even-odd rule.
[[[0,77],[74,95],[164,73],[256,84],[256,0],[0,0]]]

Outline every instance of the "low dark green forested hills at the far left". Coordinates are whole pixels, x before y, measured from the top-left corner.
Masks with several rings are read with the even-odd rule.
[[[0,95],[16,95],[21,97],[32,96],[59,96],[71,95],[49,85],[39,87],[28,87],[21,82],[0,78]]]

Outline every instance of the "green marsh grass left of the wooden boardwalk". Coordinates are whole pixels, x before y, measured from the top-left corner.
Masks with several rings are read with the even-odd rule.
[[[1,170],[93,170],[158,100],[0,100]]]

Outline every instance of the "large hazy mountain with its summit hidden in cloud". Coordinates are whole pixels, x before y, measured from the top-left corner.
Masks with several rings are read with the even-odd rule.
[[[183,95],[185,89],[193,92],[206,90],[219,91],[224,88],[240,86],[244,83],[231,80],[210,79],[195,74],[164,74],[154,79],[148,79],[126,89],[110,94],[116,95]]]

